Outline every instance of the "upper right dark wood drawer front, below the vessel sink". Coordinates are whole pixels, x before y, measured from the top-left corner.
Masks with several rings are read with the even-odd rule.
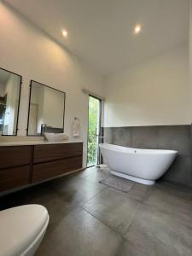
[[[59,160],[83,154],[83,143],[67,143],[34,146],[34,163]]]

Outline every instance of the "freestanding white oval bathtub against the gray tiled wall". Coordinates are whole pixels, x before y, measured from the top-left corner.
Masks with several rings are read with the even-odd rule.
[[[153,185],[177,155],[174,150],[125,148],[107,143],[99,147],[113,175],[146,185]]]

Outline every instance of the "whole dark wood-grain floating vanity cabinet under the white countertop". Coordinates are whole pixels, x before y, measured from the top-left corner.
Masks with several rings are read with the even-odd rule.
[[[82,168],[83,143],[0,147],[0,192]]]

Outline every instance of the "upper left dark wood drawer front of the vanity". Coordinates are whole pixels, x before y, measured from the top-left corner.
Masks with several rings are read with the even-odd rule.
[[[31,146],[0,147],[0,169],[30,163]]]

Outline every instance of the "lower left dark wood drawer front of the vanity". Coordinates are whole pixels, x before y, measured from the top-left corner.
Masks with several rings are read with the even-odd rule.
[[[15,189],[29,181],[29,166],[21,166],[0,171],[0,191]]]

